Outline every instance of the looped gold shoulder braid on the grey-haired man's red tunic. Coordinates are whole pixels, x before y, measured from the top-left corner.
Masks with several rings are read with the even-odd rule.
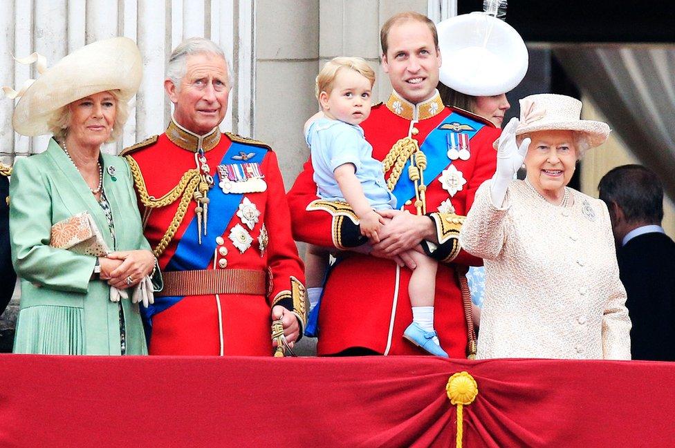
[[[156,198],[148,194],[147,186],[145,185],[145,179],[140,172],[140,166],[136,163],[136,160],[133,159],[130,155],[124,157],[129,162],[129,168],[131,168],[131,176],[133,177],[133,183],[136,185],[136,191],[138,191],[138,197],[140,198],[141,204],[146,208],[160,208],[173,204],[176,202],[178,197],[181,197],[181,202],[178,203],[178,210],[176,210],[176,215],[174,219],[169,224],[167,231],[164,233],[164,236],[157,244],[156,248],[153,250],[155,257],[159,257],[169,246],[169,242],[173,239],[178,226],[181,225],[185,213],[187,213],[187,206],[189,205],[190,199],[194,195],[194,192],[197,191],[200,181],[199,171],[196,169],[188,170],[183,177],[181,177],[178,185],[166,193],[162,197]]]

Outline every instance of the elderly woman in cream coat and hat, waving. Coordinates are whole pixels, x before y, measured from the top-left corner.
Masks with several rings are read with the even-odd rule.
[[[520,106],[460,233],[486,266],[477,356],[629,360],[631,322],[607,207],[567,186],[609,126],[581,120],[582,104],[571,97],[531,95]],[[513,180],[523,162],[526,179]]]

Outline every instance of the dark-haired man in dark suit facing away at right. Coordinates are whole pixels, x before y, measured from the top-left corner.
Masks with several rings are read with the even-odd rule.
[[[633,329],[634,360],[675,360],[675,242],[660,226],[663,187],[640,165],[618,166],[598,185],[609,208]]]

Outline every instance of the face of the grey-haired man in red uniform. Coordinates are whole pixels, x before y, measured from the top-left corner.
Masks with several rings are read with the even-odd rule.
[[[218,55],[196,53],[187,56],[185,66],[181,85],[167,79],[165,89],[176,106],[174,119],[178,124],[203,135],[218,126],[228,111],[228,65]]]

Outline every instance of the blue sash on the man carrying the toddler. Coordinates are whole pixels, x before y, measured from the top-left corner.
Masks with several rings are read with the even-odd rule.
[[[429,184],[434,182],[438,175],[452,164],[452,161],[447,157],[446,135],[447,133],[456,132],[451,129],[454,127],[451,126],[451,124],[454,125],[457,123],[459,123],[459,125],[468,125],[463,126],[461,132],[468,135],[469,139],[472,139],[474,135],[485,126],[485,124],[479,121],[453,112],[445,117],[443,122],[427,135],[427,138],[424,139],[424,142],[422,142],[422,145],[420,146],[420,150],[427,156],[427,168],[423,172],[426,186],[429,186]],[[444,125],[447,125],[445,126],[446,128],[441,129]],[[408,159],[403,167],[403,174],[400,179],[398,179],[394,191],[391,192],[396,196],[396,204],[398,204],[399,208],[401,205],[405,204],[408,199],[414,199],[415,197],[415,185],[407,176],[409,166],[410,160]]]

